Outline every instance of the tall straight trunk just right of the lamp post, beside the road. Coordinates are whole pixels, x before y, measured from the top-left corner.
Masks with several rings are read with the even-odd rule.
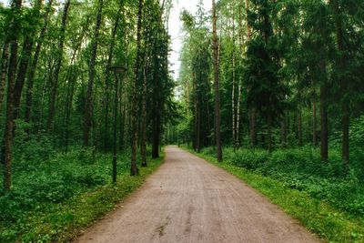
[[[136,144],[137,144],[137,114],[138,114],[138,87],[140,80],[140,69],[142,65],[141,60],[141,29],[143,17],[143,0],[139,0],[137,9],[137,29],[136,29],[136,66],[135,66],[135,80],[132,87],[132,131],[131,131],[131,169],[130,174],[136,176],[139,174],[136,166]]]

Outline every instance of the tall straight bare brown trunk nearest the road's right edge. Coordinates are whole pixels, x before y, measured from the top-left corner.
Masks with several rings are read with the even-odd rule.
[[[215,86],[215,138],[217,145],[217,161],[222,161],[221,128],[220,128],[220,92],[218,81],[218,43],[217,43],[217,14],[215,0],[212,0],[212,45],[214,50],[214,86]]]

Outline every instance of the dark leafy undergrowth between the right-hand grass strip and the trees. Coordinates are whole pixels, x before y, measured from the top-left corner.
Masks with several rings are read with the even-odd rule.
[[[215,151],[203,149],[201,153],[213,156]],[[332,208],[364,218],[362,167],[354,163],[347,175],[339,151],[331,151],[327,163],[321,162],[319,150],[312,147],[278,150],[271,154],[262,149],[239,149],[234,152],[232,148],[226,148],[224,154],[231,165],[274,178],[285,187],[326,201]]]

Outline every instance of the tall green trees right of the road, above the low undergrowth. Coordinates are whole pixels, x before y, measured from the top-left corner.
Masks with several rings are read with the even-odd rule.
[[[169,139],[214,146],[210,17],[185,11],[178,78],[183,119]],[[319,147],[349,172],[363,146],[361,1],[217,2],[221,132],[226,147]],[[359,156],[360,155],[360,156]],[[351,159],[350,159],[351,157]]]

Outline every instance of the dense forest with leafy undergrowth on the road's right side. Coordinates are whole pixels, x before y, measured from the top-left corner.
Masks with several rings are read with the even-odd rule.
[[[217,1],[226,165],[221,167],[273,178],[362,220],[363,10],[359,0]],[[197,13],[185,11],[181,20],[185,38],[177,95],[182,118],[168,127],[167,140],[210,159],[217,153],[211,15],[200,2]],[[281,195],[274,186],[254,183],[264,194]],[[283,200],[280,205],[286,207]],[[304,214],[293,215],[310,221]],[[338,237],[333,228],[341,222],[325,225],[324,218],[308,226]],[[339,241],[360,241],[358,236]]]

